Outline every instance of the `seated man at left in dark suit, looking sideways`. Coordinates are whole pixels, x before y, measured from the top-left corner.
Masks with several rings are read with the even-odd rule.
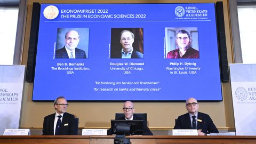
[[[56,113],[44,117],[43,135],[77,135],[78,123],[74,115],[66,113],[65,97],[54,101]]]

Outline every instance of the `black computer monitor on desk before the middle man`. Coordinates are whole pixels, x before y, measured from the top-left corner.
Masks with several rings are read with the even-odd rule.
[[[143,120],[115,120],[111,119],[111,131],[114,132],[115,124],[126,124],[130,125],[130,132],[129,135],[143,135]],[[119,133],[119,134],[126,134],[127,133]]]

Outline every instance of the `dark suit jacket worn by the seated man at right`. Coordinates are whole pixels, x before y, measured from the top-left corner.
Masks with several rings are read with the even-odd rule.
[[[209,115],[198,112],[197,119],[202,120],[202,122],[197,121],[197,130],[201,129],[203,133],[219,133]],[[189,113],[178,117],[174,129],[192,129]]]

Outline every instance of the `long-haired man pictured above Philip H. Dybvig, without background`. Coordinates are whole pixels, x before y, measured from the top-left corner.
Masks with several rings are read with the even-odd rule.
[[[167,59],[198,59],[199,51],[191,47],[192,39],[186,30],[178,30],[176,33],[176,49],[167,53]]]

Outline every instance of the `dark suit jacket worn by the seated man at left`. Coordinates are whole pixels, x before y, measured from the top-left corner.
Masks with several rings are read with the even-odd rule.
[[[44,117],[43,135],[53,135],[55,114]],[[59,135],[77,135],[78,123],[74,115],[64,113]]]

